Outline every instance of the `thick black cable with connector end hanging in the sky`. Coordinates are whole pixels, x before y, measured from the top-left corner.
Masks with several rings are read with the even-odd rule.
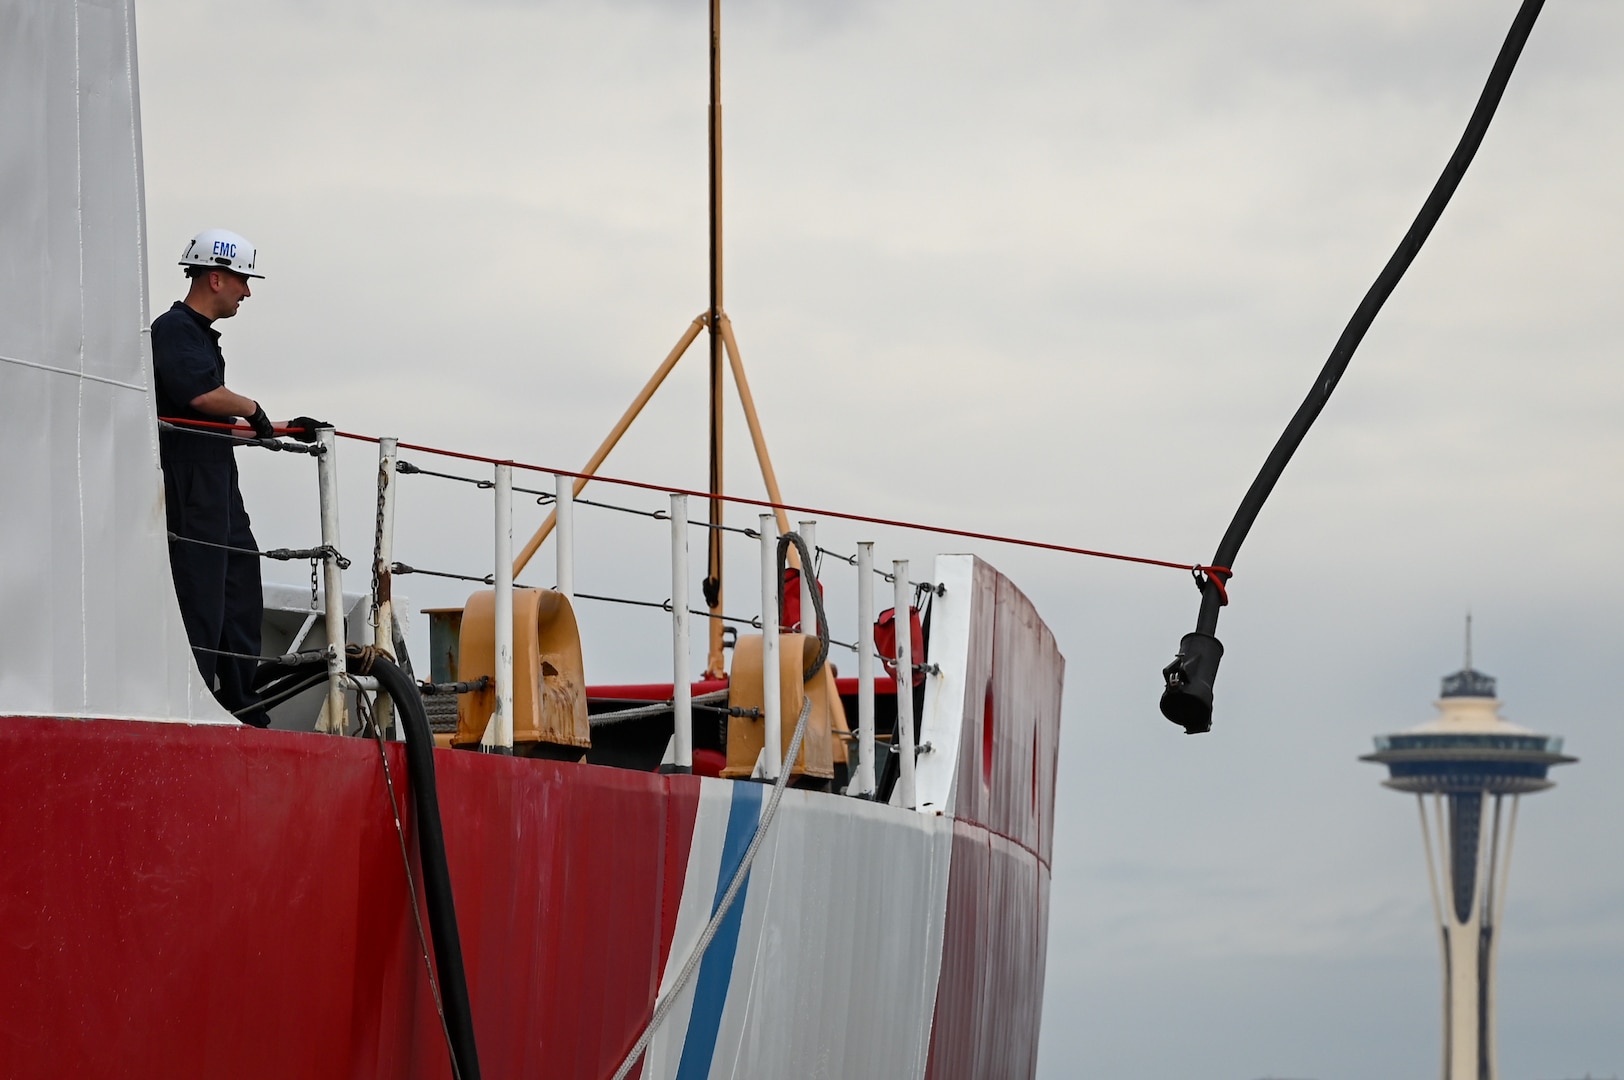
[[[1517,58],[1528,42],[1528,34],[1533,31],[1535,19],[1540,18],[1540,8],[1543,6],[1544,0],[1523,0],[1523,5],[1517,10],[1517,18],[1512,19],[1512,28],[1505,34],[1505,44],[1501,45],[1501,52],[1494,58],[1494,67],[1489,70],[1489,81],[1484,84],[1483,94],[1478,96],[1478,106],[1471,110],[1466,132],[1460,136],[1460,143],[1455,146],[1455,153],[1450,154],[1449,164],[1444,166],[1444,174],[1432,185],[1432,192],[1421,205],[1421,213],[1410,224],[1410,231],[1405,232],[1405,239],[1398,242],[1398,250],[1387,260],[1382,273],[1376,278],[1376,284],[1371,286],[1369,292],[1364,294],[1364,300],[1353,312],[1353,318],[1348,320],[1346,328],[1343,328],[1341,336],[1337,339],[1337,346],[1325,361],[1325,367],[1320,369],[1319,378],[1314,380],[1314,388],[1309,390],[1307,398],[1298,406],[1296,416],[1291,417],[1286,430],[1281,432],[1275,448],[1263,461],[1263,468],[1259,469],[1257,479],[1252,481],[1252,487],[1247,489],[1246,499],[1241,500],[1234,518],[1229,521],[1229,528],[1218,542],[1218,554],[1213,555],[1215,570],[1200,575],[1202,607],[1195,620],[1195,632],[1184,635],[1179,642],[1177,656],[1161,672],[1166,680],[1166,689],[1161,693],[1161,715],[1181,724],[1186,734],[1199,734],[1212,729],[1213,680],[1218,677],[1218,661],[1223,659],[1223,643],[1218,642],[1215,633],[1218,630],[1218,609],[1228,603],[1223,586],[1229,577],[1229,568],[1234,567],[1234,557],[1239,554],[1246,534],[1252,529],[1252,523],[1257,521],[1263,502],[1268,500],[1270,492],[1275,489],[1275,482],[1285,473],[1286,463],[1291,461],[1291,455],[1296,453],[1298,445],[1302,443],[1309,427],[1314,426],[1320,409],[1325,408],[1343,372],[1348,370],[1348,362],[1353,359],[1371,323],[1376,322],[1382,304],[1387,302],[1387,297],[1392,296],[1398,281],[1405,276],[1405,271],[1410,270],[1410,263],[1421,252],[1421,245],[1426,244],[1432,227],[1444,214],[1444,208],[1449,206],[1455,188],[1460,187],[1462,177],[1466,175],[1466,167],[1478,153],[1478,146],[1483,145],[1483,136],[1489,130],[1494,110],[1501,104],[1501,96],[1505,93],[1507,83],[1510,83],[1512,70],[1517,67]]]

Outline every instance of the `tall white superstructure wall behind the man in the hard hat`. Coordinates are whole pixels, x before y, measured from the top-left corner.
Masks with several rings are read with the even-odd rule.
[[[0,16],[0,715],[231,721],[169,577],[128,2]]]

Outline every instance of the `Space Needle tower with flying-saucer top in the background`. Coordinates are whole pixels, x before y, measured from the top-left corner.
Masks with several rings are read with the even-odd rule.
[[[1494,947],[1517,804],[1553,786],[1546,780],[1553,765],[1577,758],[1562,754],[1561,737],[1501,718],[1494,679],[1471,666],[1470,617],[1466,663],[1444,676],[1436,706],[1434,719],[1377,736],[1376,754],[1359,760],[1385,765],[1382,783],[1413,793],[1421,810],[1427,885],[1444,948],[1444,1080],[1497,1080]]]

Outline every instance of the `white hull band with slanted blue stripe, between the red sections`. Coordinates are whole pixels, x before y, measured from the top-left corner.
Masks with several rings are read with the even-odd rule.
[[[762,806],[749,796],[729,781],[700,788],[661,994],[737,866],[723,861],[729,817],[734,836],[749,841]],[[947,817],[786,791],[750,867],[726,973],[706,979],[702,968],[690,979],[654,1035],[643,1075],[922,1077],[950,856]]]

